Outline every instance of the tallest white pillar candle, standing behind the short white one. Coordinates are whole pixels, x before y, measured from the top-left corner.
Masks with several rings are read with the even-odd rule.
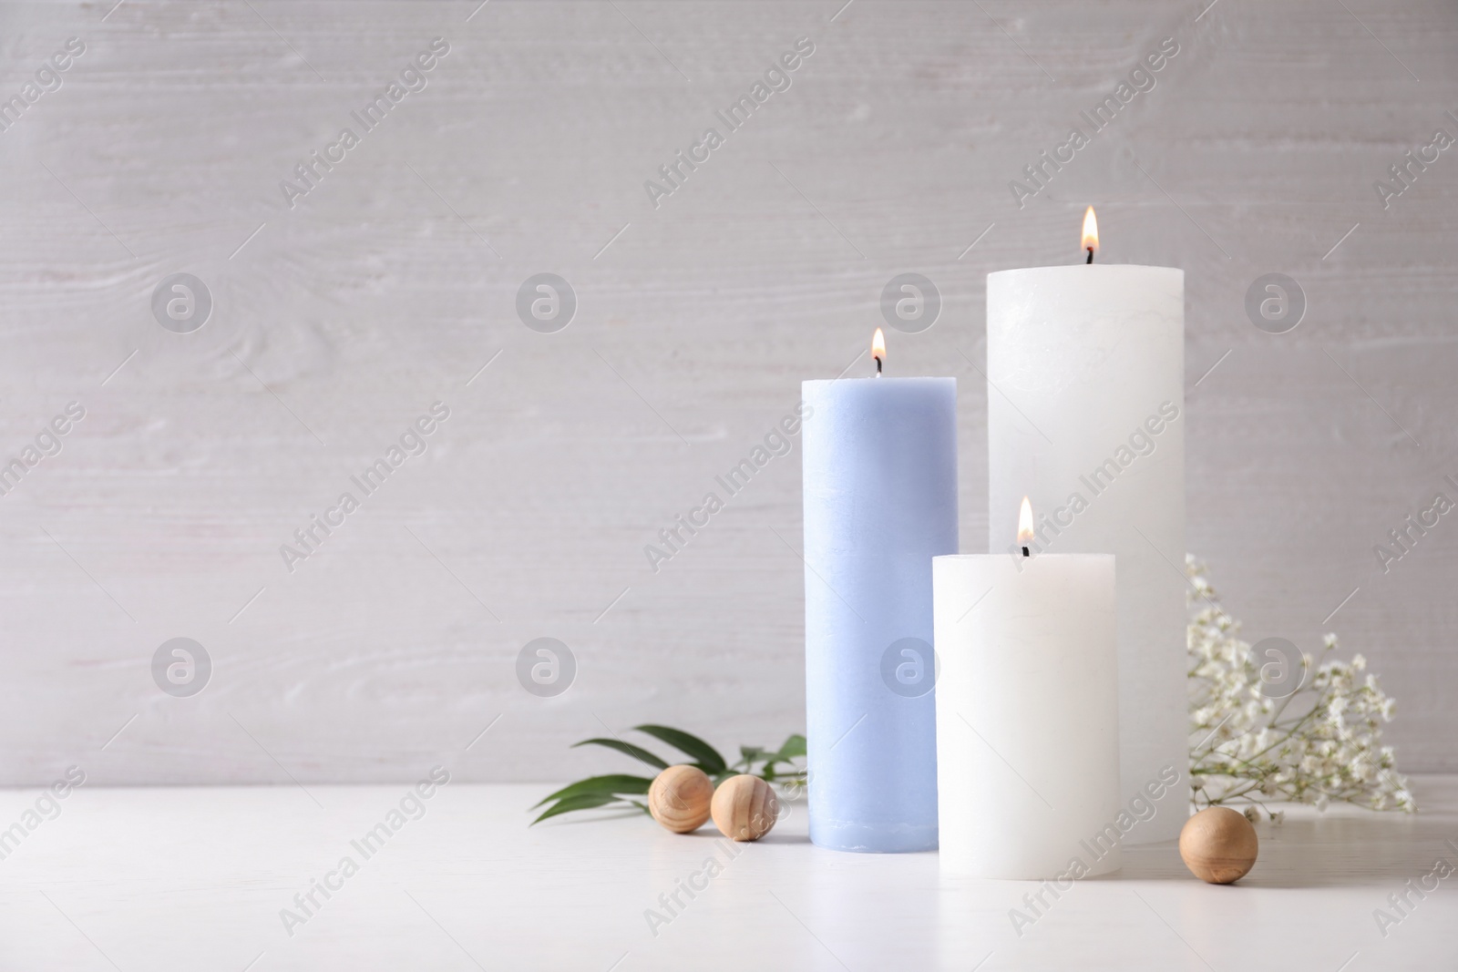
[[[989,529],[1117,554],[1124,799],[1188,771],[1184,579],[1184,273],[1070,265],[987,275]],[[1159,813],[1126,842],[1172,839]]]

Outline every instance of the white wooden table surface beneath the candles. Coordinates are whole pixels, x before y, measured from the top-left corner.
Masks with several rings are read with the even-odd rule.
[[[364,858],[351,841],[405,785],[82,787],[0,861],[9,969],[1366,969],[1458,968],[1458,874],[1379,931],[1378,908],[1458,863],[1458,777],[1420,777],[1413,818],[1296,810],[1260,825],[1239,885],[1193,879],[1172,845],[1128,853],[1019,936],[1037,886],[942,877],[935,854],[806,839],[803,804],[730,857],[713,826],[548,822],[544,784],[451,784]],[[35,791],[0,793],[0,822]],[[318,801],[318,803],[315,803]],[[280,911],[340,858],[359,864],[287,934]],[[658,934],[644,911],[717,857]],[[697,883],[704,883],[698,879]],[[302,912],[299,912],[302,914]]]

